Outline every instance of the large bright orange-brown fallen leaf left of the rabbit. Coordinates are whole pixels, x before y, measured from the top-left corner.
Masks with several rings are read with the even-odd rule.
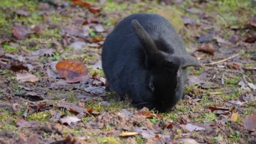
[[[71,61],[70,59],[59,61],[56,64],[59,75],[65,77],[67,83],[76,83],[82,80],[83,76],[88,73],[85,68],[82,62]]]

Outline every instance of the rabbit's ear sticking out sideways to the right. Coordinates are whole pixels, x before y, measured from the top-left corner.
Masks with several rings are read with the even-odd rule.
[[[187,54],[179,57],[181,59],[181,67],[202,67],[198,59],[194,56]]]

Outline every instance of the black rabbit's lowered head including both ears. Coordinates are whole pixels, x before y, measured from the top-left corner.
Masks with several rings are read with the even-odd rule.
[[[200,66],[197,58],[190,55],[175,55],[159,51],[156,44],[137,20],[131,22],[145,53],[145,65],[150,73],[149,90],[154,96],[154,105],[160,111],[171,109],[182,96],[176,95],[178,77],[187,75],[181,72],[189,66]],[[187,76],[184,76],[187,77]],[[181,87],[184,87],[183,82]],[[182,89],[183,90],[183,89]]]

